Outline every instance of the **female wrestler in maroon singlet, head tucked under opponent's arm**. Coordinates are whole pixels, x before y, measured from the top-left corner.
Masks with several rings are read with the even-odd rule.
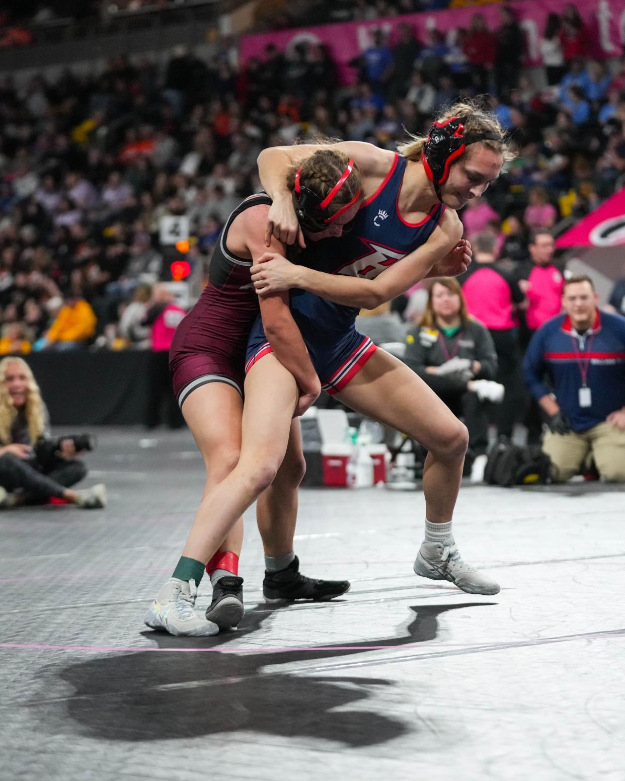
[[[353,161],[341,152],[317,149],[300,181],[324,205],[325,222],[316,238],[340,236],[345,223],[358,210],[361,187]],[[249,269],[266,249],[265,226],[270,205],[271,199],[260,193],[246,198],[230,215],[213,251],[209,282],[178,326],[170,351],[174,392],[205,460],[204,499],[238,462],[245,348],[259,312]],[[284,244],[277,240],[273,240],[273,248],[285,251]],[[281,525],[292,535],[297,488],[305,465],[299,424],[291,418],[301,415],[315,401],[320,383],[289,312],[288,295],[263,299],[260,312],[281,366],[296,383],[298,398],[289,409],[289,458],[277,474],[275,485],[259,500],[258,515],[261,528]],[[274,496],[277,492],[279,498]],[[173,576],[148,610],[145,623],[177,635],[209,635],[220,627],[236,626],[243,615],[242,580],[237,576],[242,538],[242,520],[235,519],[208,565],[198,562],[195,551],[185,547]],[[276,554],[270,545],[266,547],[266,556],[269,569],[273,569],[272,565],[283,569],[280,558],[273,561]],[[206,618],[193,609],[205,565],[213,583],[213,601]],[[348,587],[346,581],[312,580],[291,568],[288,579],[283,577],[278,586],[278,596],[330,599]]]

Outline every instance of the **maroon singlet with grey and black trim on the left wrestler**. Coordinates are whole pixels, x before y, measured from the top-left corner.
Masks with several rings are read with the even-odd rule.
[[[245,347],[259,301],[249,273],[252,261],[238,258],[226,242],[234,219],[262,204],[271,205],[271,198],[257,193],[230,214],[211,256],[209,281],[174,334],[170,372],[180,406],[191,391],[210,382],[230,384],[243,395]]]

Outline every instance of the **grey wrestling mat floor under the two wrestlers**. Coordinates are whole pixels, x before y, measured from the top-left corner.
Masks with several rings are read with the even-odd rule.
[[[241,628],[184,640],[141,616],[202,460],[186,431],[99,435],[105,511],[0,515],[3,781],[625,779],[623,490],[463,489],[496,597],[413,574],[419,492],[302,490],[302,571],[352,591],[264,604],[248,512]]]

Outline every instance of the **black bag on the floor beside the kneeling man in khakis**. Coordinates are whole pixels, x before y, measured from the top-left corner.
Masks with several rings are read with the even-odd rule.
[[[484,483],[491,486],[545,485],[551,476],[551,458],[539,444],[520,447],[499,442],[488,454]]]

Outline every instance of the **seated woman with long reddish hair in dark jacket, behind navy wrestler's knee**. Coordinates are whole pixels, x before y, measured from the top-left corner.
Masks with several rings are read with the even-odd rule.
[[[420,323],[406,337],[405,363],[464,420],[474,457],[471,480],[484,479],[488,448],[485,401],[501,401],[503,387],[492,382],[497,355],[492,337],[469,315],[457,280],[434,280]]]

